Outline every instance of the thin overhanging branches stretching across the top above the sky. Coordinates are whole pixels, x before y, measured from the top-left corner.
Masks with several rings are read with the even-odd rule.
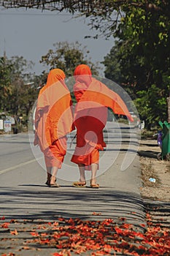
[[[110,36],[111,31],[117,30],[117,23],[120,22],[123,14],[132,8],[147,13],[158,13],[158,15],[170,18],[169,0],[0,0],[0,5],[6,8],[26,7],[60,12],[66,10],[72,14],[80,12],[82,15],[90,17],[90,25],[97,31],[102,31],[106,36]]]

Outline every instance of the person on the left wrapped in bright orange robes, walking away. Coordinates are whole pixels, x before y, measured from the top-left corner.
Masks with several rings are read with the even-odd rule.
[[[74,129],[72,99],[64,78],[61,69],[50,70],[36,104],[34,146],[45,156],[50,187],[58,187],[56,176],[66,154],[66,135]]]

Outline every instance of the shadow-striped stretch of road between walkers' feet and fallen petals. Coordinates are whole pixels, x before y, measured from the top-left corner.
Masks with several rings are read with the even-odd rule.
[[[49,188],[36,184],[23,184],[20,189],[4,187],[1,188],[0,211],[6,219],[114,219],[137,227],[144,223],[141,197],[109,187]]]

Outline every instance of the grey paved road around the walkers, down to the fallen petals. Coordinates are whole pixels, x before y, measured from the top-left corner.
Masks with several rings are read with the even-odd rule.
[[[34,135],[0,136],[0,215],[6,220],[78,217],[88,220],[112,218],[115,222],[123,217],[126,222],[141,228],[140,225],[146,223],[140,196],[142,184],[136,130],[108,122],[104,137],[108,146],[101,152],[100,188],[91,189],[89,180],[86,188],[72,187],[72,181],[78,178],[77,166],[70,162],[75,146],[74,141],[69,146],[72,138],[68,139],[66,159],[58,173],[61,187],[50,188],[45,186],[43,157],[31,144]]]

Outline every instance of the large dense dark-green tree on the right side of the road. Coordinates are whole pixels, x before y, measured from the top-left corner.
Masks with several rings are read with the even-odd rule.
[[[150,9],[122,6],[117,41],[103,61],[106,77],[128,91],[148,127],[167,120],[170,87],[170,6],[166,1],[152,4]]]

